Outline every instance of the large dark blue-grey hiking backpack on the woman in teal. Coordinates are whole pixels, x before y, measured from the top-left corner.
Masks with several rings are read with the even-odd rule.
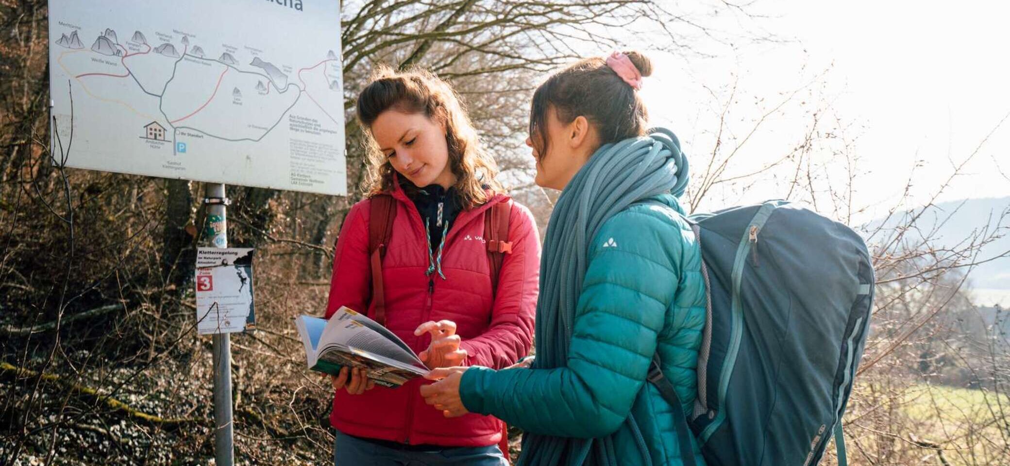
[[[833,434],[844,465],[841,418],[874,297],[863,238],[785,201],[688,221],[708,308],[694,413],[676,420],[681,451],[691,451],[693,432],[709,466],[812,466]],[[659,363],[649,381],[681,406]],[[694,455],[682,457],[694,465]]]

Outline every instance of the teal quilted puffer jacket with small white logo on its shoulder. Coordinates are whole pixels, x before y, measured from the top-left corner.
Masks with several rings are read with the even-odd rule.
[[[701,249],[683,212],[677,198],[664,195],[604,223],[590,243],[568,365],[472,367],[460,385],[467,410],[532,433],[580,438],[616,433],[621,465],[683,464],[672,409],[645,380],[659,351],[663,371],[683,402],[677,409],[685,415],[693,411],[705,284]],[[624,423],[629,414],[634,425]],[[639,453],[639,439],[649,458]],[[703,466],[696,443],[694,450],[696,464]]]

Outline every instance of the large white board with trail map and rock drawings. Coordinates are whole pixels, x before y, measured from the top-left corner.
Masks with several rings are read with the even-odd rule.
[[[49,0],[69,166],[346,193],[334,0]]]

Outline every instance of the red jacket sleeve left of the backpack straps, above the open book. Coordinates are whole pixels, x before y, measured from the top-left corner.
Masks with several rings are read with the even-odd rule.
[[[326,319],[346,306],[367,313],[372,298],[372,266],[369,263],[369,202],[355,204],[343,219],[333,254]]]

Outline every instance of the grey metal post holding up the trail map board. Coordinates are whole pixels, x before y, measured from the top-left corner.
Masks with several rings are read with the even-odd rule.
[[[205,185],[207,225],[204,228],[214,247],[228,247],[228,222],[224,197],[224,185]],[[214,360],[214,458],[217,466],[234,464],[234,444],[231,422],[231,338],[230,334],[217,333],[213,336]]]

